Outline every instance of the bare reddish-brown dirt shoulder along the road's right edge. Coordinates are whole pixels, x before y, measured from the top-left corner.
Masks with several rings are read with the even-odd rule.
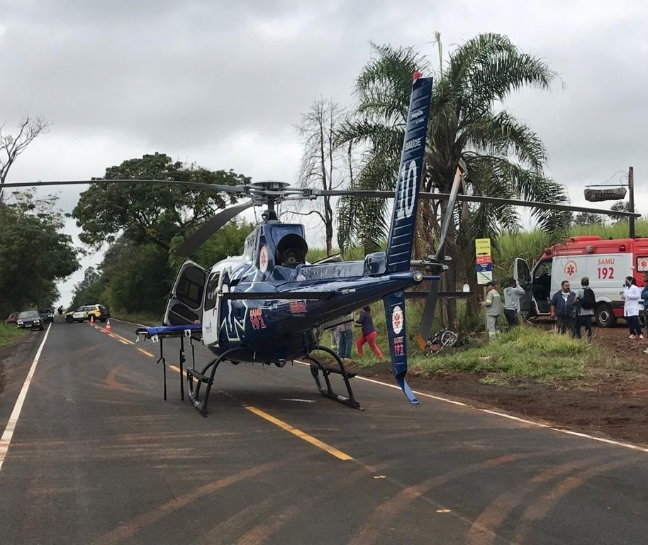
[[[485,375],[408,374],[414,390],[452,397],[477,407],[501,409],[516,416],[596,436],[648,446],[648,344],[628,338],[627,328],[596,328],[592,341],[612,356],[586,380],[545,385],[511,382],[484,384]],[[388,364],[358,369],[359,375],[393,380]]]

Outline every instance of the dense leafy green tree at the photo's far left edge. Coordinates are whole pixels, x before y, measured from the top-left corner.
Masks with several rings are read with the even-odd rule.
[[[79,268],[56,201],[23,192],[0,202],[0,315],[50,306],[59,296],[57,281]]]

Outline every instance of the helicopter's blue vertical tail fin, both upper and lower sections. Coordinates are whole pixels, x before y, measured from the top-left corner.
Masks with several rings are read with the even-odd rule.
[[[415,75],[416,77],[416,75]],[[432,78],[418,77],[412,86],[410,110],[403,140],[401,164],[393,201],[391,229],[387,241],[387,271],[410,270],[418,189],[423,171],[423,155],[428,135],[428,117],[432,97]],[[418,404],[405,380],[407,373],[407,335],[405,329],[405,293],[396,292],[383,298],[391,352],[391,367],[396,382],[412,404]]]

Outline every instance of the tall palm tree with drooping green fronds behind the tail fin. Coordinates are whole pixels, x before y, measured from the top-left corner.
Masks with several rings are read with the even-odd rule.
[[[340,138],[366,146],[355,189],[393,189],[411,77],[417,70],[424,74],[432,70],[427,58],[413,48],[372,43],[372,53],[374,57],[357,79],[357,112]],[[504,35],[480,34],[460,45],[435,77],[421,189],[449,192],[457,162],[463,158],[469,172],[462,188],[465,194],[564,201],[564,187],[544,175],[547,152],[542,141],[503,104],[511,92],[525,86],[549,89],[556,77],[546,63],[522,53]],[[447,248],[454,265],[444,275],[449,290],[454,290],[459,271],[474,278],[475,238],[494,237],[520,226],[513,207],[459,204],[447,211],[445,201],[425,203],[418,218],[415,248],[419,253],[432,250],[439,218],[447,212],[454,215]],[[562,236],[557,214],[540,209],[532,214],[542,229]],[[367,251],[375,251],[376,241],[386,236],[384,215],[384,203],[343,199],[338,210],[340,248],[345,243],[359,243]],[[454,311],[448,319],[454,320]]]

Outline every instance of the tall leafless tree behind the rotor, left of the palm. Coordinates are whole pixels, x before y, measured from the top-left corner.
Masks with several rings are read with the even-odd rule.
[[[345,116],[339,104],[324,99],[315,99],[308,113],[301,116],[297,131],[303,143],[299,182],[303,187],[339,189],[346,180],[345,172],[350,169],[348,145],[337,143],[337,131]],[[348,164],[347,164],[348,163]],[[332,197],[323,197],[320,209],[310,213],[318,214],[324,224],[326,254],[333,251],[333,206]]]

